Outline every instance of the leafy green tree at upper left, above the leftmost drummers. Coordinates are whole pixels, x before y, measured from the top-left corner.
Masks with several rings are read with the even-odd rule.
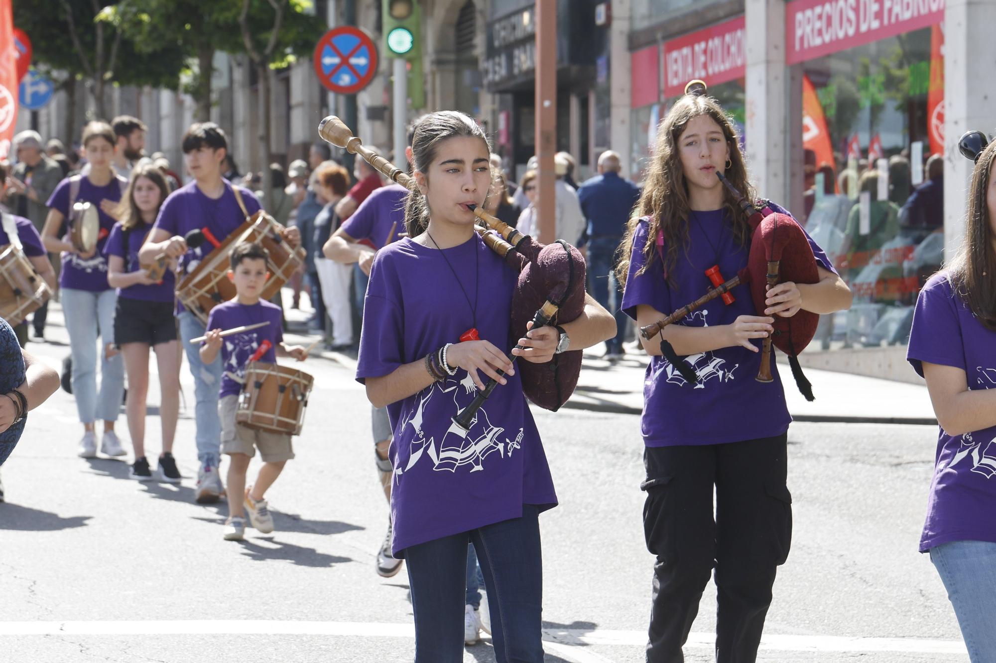
[[[120,26],[107,20],[121,1],[30,0],[14,2],[14,24],[31,39],[35,67],[54,75],[70,93],[66,135],[75,136],[74,83],[89,83],[96,116],[108,119],[105,90],[108,85],[151,86],[176,90],[183,67],[182,53],[168,44],[139,48]],[[61,74],[60,74],[61,73]]]

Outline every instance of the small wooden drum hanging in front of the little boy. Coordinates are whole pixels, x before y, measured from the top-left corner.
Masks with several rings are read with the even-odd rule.
[[[300,435],[314,383],[314,377],[298,368],[250,361],[235,421],[256,430]]]

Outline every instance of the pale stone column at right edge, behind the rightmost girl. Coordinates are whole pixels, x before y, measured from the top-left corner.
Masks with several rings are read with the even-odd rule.
[[[973,164],[958,138],[977,129],[996,132],[996,55],[992,0],[947,0],[944,9],[944,262],[965,234],[966,191]]]

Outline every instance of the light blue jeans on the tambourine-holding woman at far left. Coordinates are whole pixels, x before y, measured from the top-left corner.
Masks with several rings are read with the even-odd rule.
[[[117,421],[124,396],[124,361],[108,358],[105,347],[115,341],[115,308],[118,293],[62,289],[63,317],[73,354],[73,396],[80,422]],[[101,348],[97,334],[101,334]],[[97,390],[97,355],[101,355],[101,389]]]

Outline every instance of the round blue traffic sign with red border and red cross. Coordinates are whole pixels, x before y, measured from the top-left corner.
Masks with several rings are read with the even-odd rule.
[[[354,95],[376,75],[376,47],[367,33],[340,26],[325,33],[315,47],[315,73],[326,88]]]

